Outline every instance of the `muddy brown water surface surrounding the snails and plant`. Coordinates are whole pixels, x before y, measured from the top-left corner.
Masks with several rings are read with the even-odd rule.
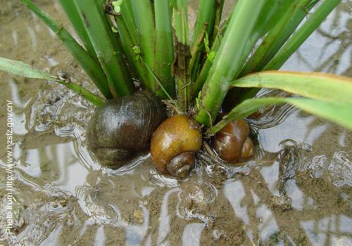
[[[56,1],[37,3],[63,25]],[[0,56],[89,79],[18,0],[0,0]],[[284,65],[352,76],[352,1],[343,1]],[[255,159],[199,155],[188,179],[149,155],[112,171],[89,155],[94,107],[52,82],[0,72],[1,245],[352,245],[352,133],[288,106],[251,119]],[[272,93],[272,92],[263,92]],[[13,228],[5,100],[13,101]]]

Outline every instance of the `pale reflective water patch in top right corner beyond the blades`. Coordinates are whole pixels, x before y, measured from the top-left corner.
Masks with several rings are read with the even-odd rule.
[[[351,0],[342,1],[283,69],[352,76],[351,13]]]

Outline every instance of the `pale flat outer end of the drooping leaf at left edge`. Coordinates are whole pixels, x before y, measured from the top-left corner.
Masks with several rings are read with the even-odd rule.
[[[9,60],[6,58],[0,58],[0,70],[3,70],[5,72],[10,72],[13,75],[18,75],[18,76],[32,78],[32,79],[56,80],[49,73],[39,70],[38,68],[32,67],[18,60]]]

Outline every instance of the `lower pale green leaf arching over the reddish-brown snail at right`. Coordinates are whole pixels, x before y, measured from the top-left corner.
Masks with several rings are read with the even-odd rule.
[[[325,102],[318,101],[310,98],[252,98],[247,99],[234,107],[231,112],[226,115],[218,124],[211,127],[208,131],[208,135],[211,136],[216,134],[220,129],[225,127],[226,124],[236,119],[242,119],[247,117],[253,112],[256,112],[258,108],[265,105],[272,105],[278,103],[289,103],[291,105],[310,112],[313,115],[328,119],[334,123],[341,124],[350,130],[352,130],[352,102]]]

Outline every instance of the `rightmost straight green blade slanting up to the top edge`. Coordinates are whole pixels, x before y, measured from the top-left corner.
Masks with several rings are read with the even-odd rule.
[[[308,20],[290,37],[279,52],[266,65],[263,70],[277,70],[289,59],[301,44],[319,27],[327,15],[331,13],[341,0],[325,0],[308,16]]]

